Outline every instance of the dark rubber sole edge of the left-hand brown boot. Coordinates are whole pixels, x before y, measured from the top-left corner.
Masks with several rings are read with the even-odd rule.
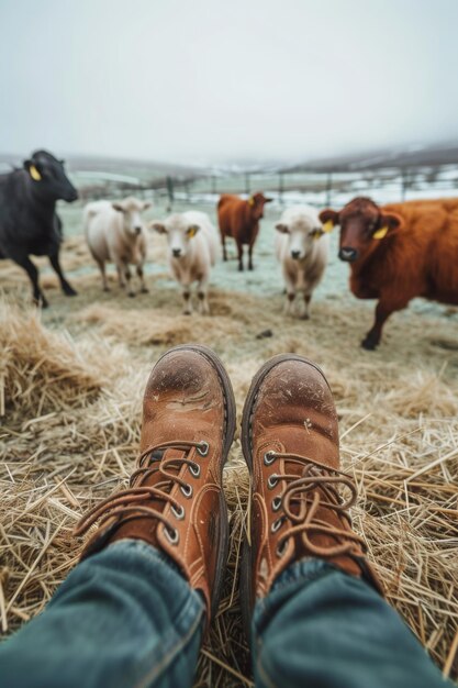
[[[178,351],[193,351],[197,354],[200,354],[201,356],[203,356],[213,366],[213,368],[217,373],[217,377],[220,379],[220,384],[223,389],[223,397],[225,401],[223,455],[221,457],[221,471],[220,471],[220,484],[221,484],[220,547],[219,547],[219,553],[217,553],[215,579],[213,584],[212,598],[211,598],[211,619],[209,620],[210,622],[212,619],[214,619],[217,612],[217,608],[220,606],[220,598],[221,598],[221,592],[223,589],[224,574],[226,572],[226,564],[227,564],[227,557],[228,557],[228,545],[230,545],[228,513],[227,513],[227,504],[226,504],[226,500],[225,500],[224,491],[223,491],[223,468],[227,462],[227,455],[230,453],[230,450],[234,440],[235,423],[236,423],[235,397],[234,397],[234,390],[232,388],[232,384],[226,373],[226,369],[222,360],[220,359],[220,357],[211,348],[209,348],[208,346],[203,346],[202,344],[182,344],[180,346],[174,346],[172,348],[169,348],[167,351],[167,354],[169,354],[170,352],[178,352]]]

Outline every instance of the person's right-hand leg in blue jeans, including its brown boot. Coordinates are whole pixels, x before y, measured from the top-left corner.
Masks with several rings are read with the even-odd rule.
[[[252,473],[242,610],[257,686],[435,688],[439,670],[365,558],[340,470],[337,413],[325,377],[297,355],[255,376],[242,421]],[[345,493],[345,497],[342,493]]]

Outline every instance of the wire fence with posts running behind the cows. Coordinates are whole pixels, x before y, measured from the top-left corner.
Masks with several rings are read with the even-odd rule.
[[[102,174],[101,174],[102,178]],[[214,203],[221,193],[249,196],[264,191],[277,204],[306,202],[323,207],[345,203],[355,196],[377,202],[458,196],[458,165],[407,169],[387,167],[365,171],[245,171],[165,176],[133,181],[105,180],[80,186],[81,200],[135,195],[161,202]]]

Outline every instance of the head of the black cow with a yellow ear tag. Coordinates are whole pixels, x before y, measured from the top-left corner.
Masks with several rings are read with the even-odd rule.
[[[47,151],[35,151],[32,157],[24,160],[24,169],[34,193],[47,201],[67,201],[71,203],[78,192],[65,174],[64,160],[58,160]]]

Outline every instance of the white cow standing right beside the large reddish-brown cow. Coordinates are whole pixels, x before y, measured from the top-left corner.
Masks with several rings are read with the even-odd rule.
[[[283,212],[276,224],[276,255],[283,270],[287,288],[284,312],[291,314],[298,291],[303,293],[300,315],[308,319],[312,293],[323,277],[327,263],[329,237],[323,232],[317,211],[297,206]]]

